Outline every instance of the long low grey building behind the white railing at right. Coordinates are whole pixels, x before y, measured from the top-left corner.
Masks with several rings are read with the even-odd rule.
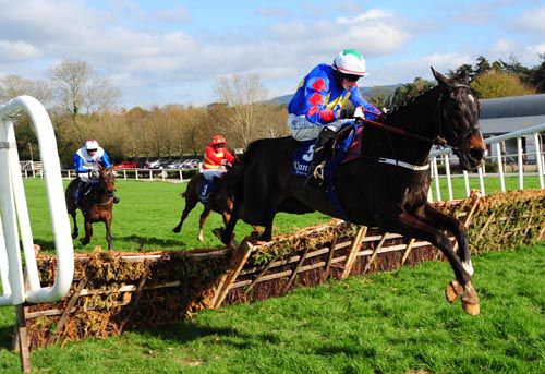
[[[485,138],[545,124],[545,94],[511,96],[480,100],[481,132]],[[545,132],[542,132],[542,135]],[[543,136],[541,136],[542,147]],[[528,161],[535,161],[534,136],[523,136],[522,147],[529,154]],[[502,153],[507,161],[517,158],[517,140],[505,141]],[[488,149],[488,157],[496,156],[495,147]]]

